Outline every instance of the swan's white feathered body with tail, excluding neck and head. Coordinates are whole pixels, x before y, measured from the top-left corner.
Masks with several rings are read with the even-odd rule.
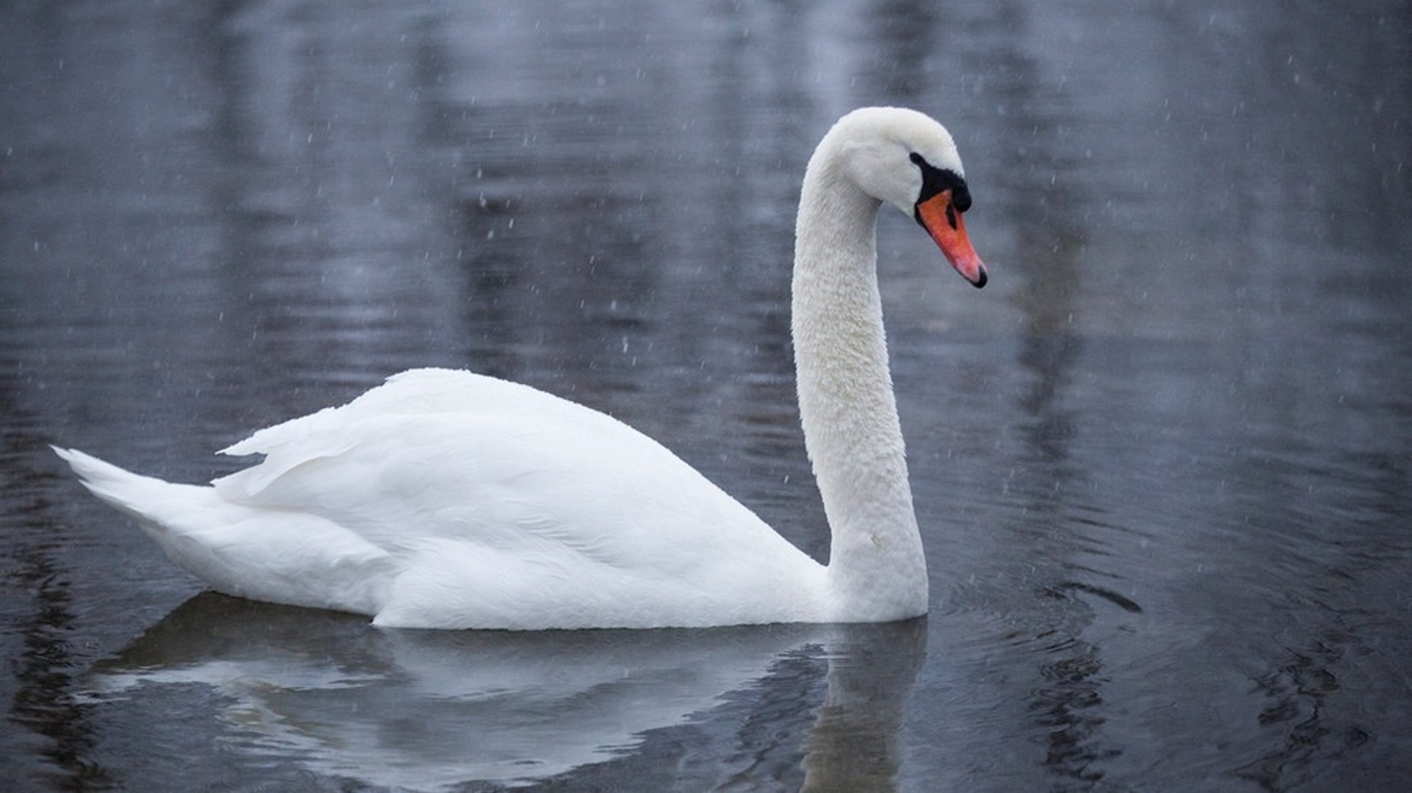
[[[645,435],[525,385],[407,371],[226,452],[265,460],[202,488],[64,456],[243,597],[421,628],[705,625],[751,587],[768,618],[731,622],[820,614],[819,563]]]

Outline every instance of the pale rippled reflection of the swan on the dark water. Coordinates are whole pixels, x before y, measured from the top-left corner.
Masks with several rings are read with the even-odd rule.
[[[236,755],[373,786],[621,777],[634,773],[651,731],[692,725],[652,751],[689,755],[666,768],[705,775],[703,789],[762,775],[805,790],[887,790],[925,642],[925,618],[377,629],[363,617],[203,593],[102,662],[92,689],[110,700],[209,686],[220,694],[223,745]],[[661,758],[644,762],[661,773]]]

